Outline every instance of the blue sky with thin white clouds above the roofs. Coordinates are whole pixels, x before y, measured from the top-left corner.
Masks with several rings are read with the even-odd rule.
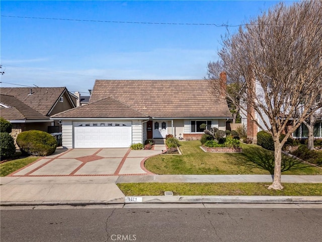
[[[65,86],[87,95],[96,79],[203,79],[226,28],[179,23],[243,24],[277,3],[1,1],[1,86]]]

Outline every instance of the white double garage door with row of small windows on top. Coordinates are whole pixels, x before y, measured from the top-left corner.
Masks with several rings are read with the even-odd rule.
[[[131,144],[131,122],[74,122],[75,148],[118,148]]]

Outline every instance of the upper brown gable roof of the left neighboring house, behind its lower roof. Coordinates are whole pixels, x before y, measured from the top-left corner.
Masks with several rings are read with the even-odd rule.
[[[1,87],[0,93],[14,96],[41,114],[48,115],[65,90],[65,87]]]

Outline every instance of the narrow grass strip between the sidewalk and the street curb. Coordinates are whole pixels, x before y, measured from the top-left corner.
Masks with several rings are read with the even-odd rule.
[[[322,196],[322,184],[284,183],[282,191],[268,190],[268,183],[123,183],[125,196]]]

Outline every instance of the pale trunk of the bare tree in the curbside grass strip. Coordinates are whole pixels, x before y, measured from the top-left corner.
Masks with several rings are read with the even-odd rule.
[[[274,148],[274,178],[273,184],[268,189],[282,190],[284,188],[281,184],[282,145],[279,139],[274,140]]]

